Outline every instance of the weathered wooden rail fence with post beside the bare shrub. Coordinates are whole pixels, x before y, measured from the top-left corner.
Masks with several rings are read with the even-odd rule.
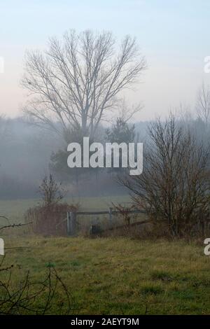
[[[70,236],[76,235],[76,217],[78,215],[109,215],[109,223],[113,223],[113,215],[122,214],[121,211],[113,210],[113,208],[109,208],[109,211],[68,211],[67,212],[67,234]],[[129,210],[127,214],[146,214],[144,210]],[[136,223],[132,223],[133,225],[141,225],[144,223],[149,223],[149,221],[140,221]],[[123,228],[126,225],[120,225],[116,228]],[[108,230],[113,230],[113,228],[109,228]]]

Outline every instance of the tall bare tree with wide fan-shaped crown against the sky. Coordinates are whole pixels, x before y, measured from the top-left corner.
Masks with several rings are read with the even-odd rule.
[[[130,36],[117,50],[111,32],[66,32],[62,41],[50,38],[45,52],[27,52],[22,85],[32,97],[24,111],[59,134],[71,126],[93,137],[120,92],[144,69],[146,60]]]

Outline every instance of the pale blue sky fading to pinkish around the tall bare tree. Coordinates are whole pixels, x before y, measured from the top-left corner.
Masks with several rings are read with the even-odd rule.
[[[20,113],[25,95],[19,81],[26,49],[45,48],[48,36],[66,29],[111,30],[116,38],[137,37],[148,70],[143,83],[127,96],[144,102],[139,119],[190,105],[202,80],[204,57],[210,55],[208,0],[0,0],[0,113]]]

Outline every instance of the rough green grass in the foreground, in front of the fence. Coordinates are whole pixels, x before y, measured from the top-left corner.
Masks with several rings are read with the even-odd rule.
[[[210,314],[210,258],[202,245],[81,237],[6,237],[5,245],[14,284],[27,269],[41,279],[50,263],[79,314]]]

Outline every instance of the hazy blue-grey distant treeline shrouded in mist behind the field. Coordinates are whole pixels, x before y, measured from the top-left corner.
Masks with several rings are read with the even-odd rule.
[[[202,120],[190,119],[188,124],[193,125],[198,137],[209,139],[209,129],[204,129]],[[135,123],[136,140],[144,142],[147,127],[148,122]],[[100,129],[102,132],[100,139],[104,141],[107,136],[111,141],[116,137],[115,134],[118,134],[116,126],[110,127],[108,131],[104,127]],[[72,196],[125,193],[125,190],[116,183],[115,173],[110,170],[92,170],[80,175],[69,169],[66,164],[66,142],[50,130],[26,123],[22,118],[1,117],[0,137],[1,199],[37,197],[38,185],[49,171],[54,172],[68,191],[67,194]],[[120,139],[122,138],[120,135]],[[62,160],[60,153],[64,155]]]

